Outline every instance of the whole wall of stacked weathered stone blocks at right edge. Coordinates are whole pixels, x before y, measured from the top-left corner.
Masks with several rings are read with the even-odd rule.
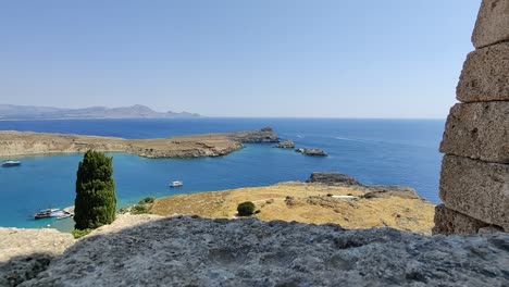
[[[509,0],[483,0],[447,118],[434,234],[509,232]]]

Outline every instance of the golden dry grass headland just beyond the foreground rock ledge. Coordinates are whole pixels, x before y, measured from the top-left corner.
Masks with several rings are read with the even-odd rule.
[[[197,214],[202,217],[235,217],[238,203],[252,201],[262,221],[282,220],[303,223],[335,223],[345,228],[393,227],[431,234],[434,205],[419,198],[390,196],[346,201],[327,197],[362,196],[356,187],[321,184],[283,183],[266,187],[173,196],[157,199],[151,212],[158,215]],[[289,196],[291,204],[285,202]],[[273,199],[274,202],[266,201]]]

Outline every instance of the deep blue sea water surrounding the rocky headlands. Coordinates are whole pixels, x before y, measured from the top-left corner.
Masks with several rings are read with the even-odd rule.
[[[312,172],[349,174],[363,184],[411,186],[439,201],[444,121],[331,118],[70,120],[0,122],[0,129],[153,138],[271,126],[297,147],[322,148],[330,157],[305,157],[272,145],[247,145],[222,158],[144,159],[112,153],[120,205],[146,196],[170,196],[285,180],[305,180]],[[40,227],[33,220],[42,208],[74,204],[74,184],[82,154],[16,157],[18,167],[0,169],[0,226]],[[5,159],[0,159],[5,160]],[[169,188],[175,179],[179,188]]]

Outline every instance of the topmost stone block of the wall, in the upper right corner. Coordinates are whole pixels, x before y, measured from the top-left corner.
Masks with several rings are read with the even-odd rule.
[[[509,40],[509,0],[483,0],[472,35],[475,48]]]

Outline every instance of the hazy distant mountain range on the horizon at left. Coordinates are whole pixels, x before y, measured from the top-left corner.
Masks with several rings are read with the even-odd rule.
[[[0,104],[0,120],[50,120],[50,118],[175,118],[198,117],[197,113],[172,111],[161,113],[135,104],[122,108],[91,107],[85,109],[61,109],[50,107]]]

